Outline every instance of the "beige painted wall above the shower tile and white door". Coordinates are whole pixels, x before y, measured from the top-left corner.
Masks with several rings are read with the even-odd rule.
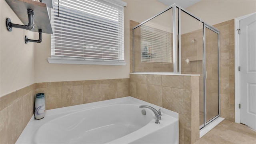
[[[256,12],[256,0],[202,0],[186,10],[214,25]]]

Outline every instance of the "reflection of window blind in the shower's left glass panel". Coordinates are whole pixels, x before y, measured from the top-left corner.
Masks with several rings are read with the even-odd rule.
[[[142,62],[172,62],[172,38],[167,30],[143,24],[141,34]]]

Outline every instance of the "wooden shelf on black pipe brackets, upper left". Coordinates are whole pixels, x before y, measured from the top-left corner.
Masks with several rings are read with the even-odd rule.
[[[5,0],[24,25],[28,24],[28,9],[34,11],[34,28],[30,31],[53,34],[47,5],[32,0]],[[12,22],[16,23],[16,22]]]

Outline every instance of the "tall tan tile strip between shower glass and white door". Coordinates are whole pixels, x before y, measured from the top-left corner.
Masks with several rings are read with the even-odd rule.
[[[234,19],[214,27],[220,30],[220,116],[234,122]]]

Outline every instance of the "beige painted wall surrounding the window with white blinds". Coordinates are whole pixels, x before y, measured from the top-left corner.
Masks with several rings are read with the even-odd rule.
[[[157,0],[123,1],[127,3],[127,6],[124,8],[124,58],[127,62],[126,66],[49,64],[47,58],[51,55],[50,34],[43,34],[42,43],[35,45],[35,82],[129,78],[129,20],[143,22],[167,6]]]

